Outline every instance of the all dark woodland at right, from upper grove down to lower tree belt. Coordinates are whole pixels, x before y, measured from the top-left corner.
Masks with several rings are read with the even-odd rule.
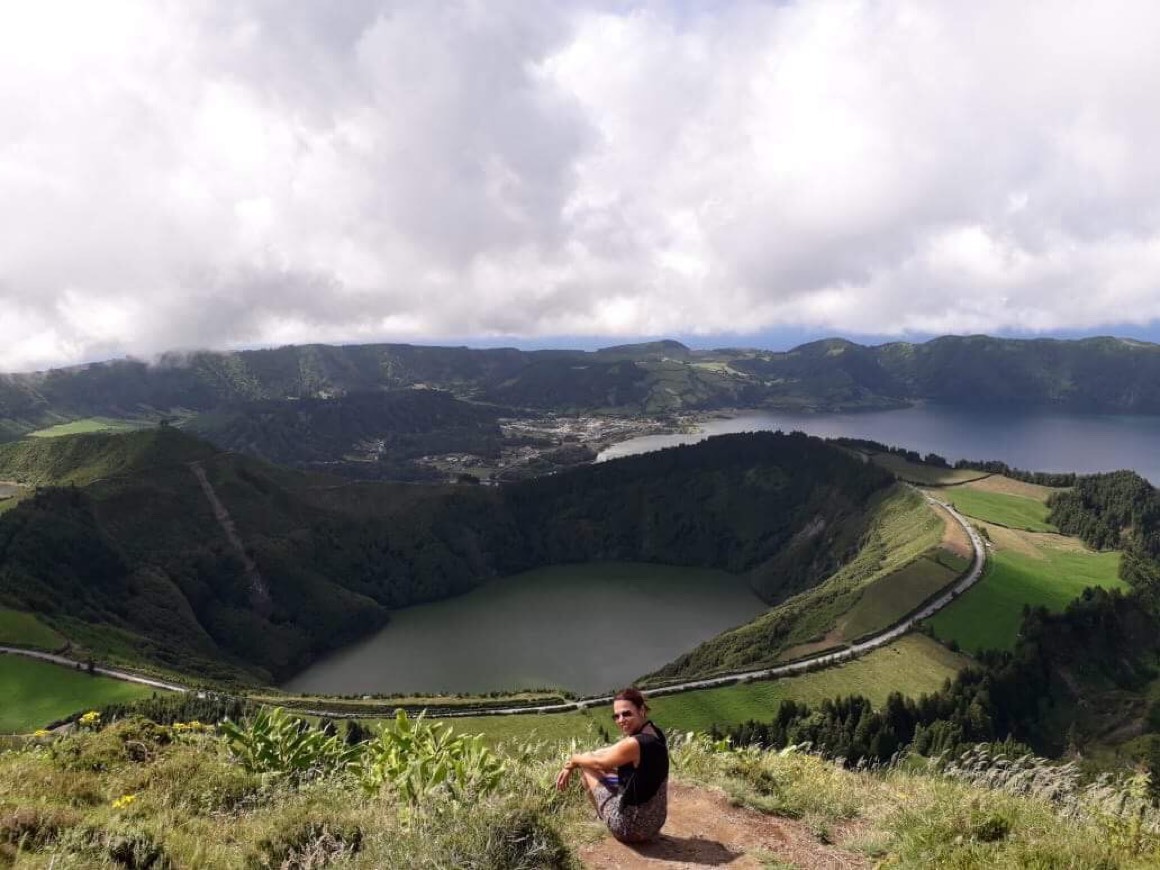
[[[817,708],[783,704],[773,722],[731,730],[735,739],[783,745],[804,740],[851,761],[882,760],[908,747],[958,752],[1014,740],[1058,755],[1109,747],[1137,760],[1160,783],[1160,564],[1155,491],[1136,474],[1081,477],[1051,498],[1052,522],[1093,544],[1126,548],[1121,590],[1090,588],[1063,612],[1024,610],[1012,652],[981,655],[938,693],[893,697],[880,709],[860,697]],[[1160,789],[1158,789],[1160,792]]]

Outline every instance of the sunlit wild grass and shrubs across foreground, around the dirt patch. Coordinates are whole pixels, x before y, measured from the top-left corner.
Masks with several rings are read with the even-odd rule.
[[[499,773],[486,784],[464,790],[415,774],[430,785],[415,791],[345,763],[291,775],[231,756],[225,739],[200,727],[129,720],[0,755],[0,865],[575,868],[579,849],[603,832],[575,785],[552,788],[566,752],[508,744],[478,764]],[[384,764],[426,757],[403,751]],[[809,860],[811,841],[842,850],[849,865],[1160,861],[1160,820],[1133,797],[1138,782],[1086,788],[1066,769],[1016,767],[977,756],[950,771],[854,773],[800,752],[723,751],[703,739],[673,751],[674,780],[722,790],[795,834],[792,855],[777,851],[778,838],[752,855],[764,865]]]

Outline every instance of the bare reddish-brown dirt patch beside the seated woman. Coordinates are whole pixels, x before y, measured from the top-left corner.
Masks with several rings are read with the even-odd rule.
[[[669,783],[668,821],[658,840],[625,846],[606,836],[580,850],[589,870],[760,870],[780,861],[807,870],[868,868],[862,855],[818,842],[806,825],[731,806],[718,791]]]

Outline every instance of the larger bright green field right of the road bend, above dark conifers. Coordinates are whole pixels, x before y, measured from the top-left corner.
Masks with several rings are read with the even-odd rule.
[[[929,623],[938,638],[964,650],[1012,650],[1023,622],[1023,604],[1063,610],[1088,586],[1124,588],[1118,552],[1038,548],[1038,557],[1012,550],[992,552],[986,573]]]

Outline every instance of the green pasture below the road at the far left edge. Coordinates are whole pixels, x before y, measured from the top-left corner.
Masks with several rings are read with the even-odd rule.
[[[155,689],[23,655],[0,655],[0,733],[27,733],[102,704],[146,698]]]

